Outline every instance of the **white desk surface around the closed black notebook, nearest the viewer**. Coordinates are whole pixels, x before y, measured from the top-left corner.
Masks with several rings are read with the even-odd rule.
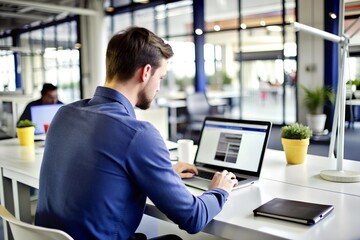
[[[335,209],[314,226],[253,215],[253,209],[274,197],[330,203]],[[359,207],[360,198],[356,196],[260,179],[250,187],[232,192],[223,210],[203,231],[227,239],[359,239],[360,228],[356,223],[360,220]],[[164,217],[151,203],[146,214]]]

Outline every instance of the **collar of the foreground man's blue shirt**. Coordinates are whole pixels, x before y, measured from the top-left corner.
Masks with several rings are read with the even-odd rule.
[[[112,101],[119,102],[124,106],[129,115],[133,118],[136,118],[135,110],[130,101],[120,92],[107,87],[96,87],[94,96],[105,97]]]

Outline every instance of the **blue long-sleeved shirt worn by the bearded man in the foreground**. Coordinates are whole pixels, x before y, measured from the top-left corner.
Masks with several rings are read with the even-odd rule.
[[[74,239],[128,239],[146,197],[196,233],[220,212],[228,193],[193,196],[173,170],[160,133],[136,120],[119,92],[98,87],[92,99],[61,107],[46,137],[36,225]]]

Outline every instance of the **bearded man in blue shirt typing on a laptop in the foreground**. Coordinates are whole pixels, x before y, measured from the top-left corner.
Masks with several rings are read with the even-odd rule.
[[[201,231],[220,212],[237,184],[235,175],[218,172],[208,191],[192,195],[181,178],[197,169],[173,166],[160,133],[135,117],[135,106],[149,108],[172,55],[170,45],[144,28],[113,36],[104,86],[93,98],[60,108],[51,123],[37,225],[64,230],[74,239],[128,239],[147,197],[189,233]]]

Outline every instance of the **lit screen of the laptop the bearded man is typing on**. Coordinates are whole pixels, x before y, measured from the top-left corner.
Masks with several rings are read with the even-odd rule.
[[[207,118],[195,162],[259,173],[270,122]]]

